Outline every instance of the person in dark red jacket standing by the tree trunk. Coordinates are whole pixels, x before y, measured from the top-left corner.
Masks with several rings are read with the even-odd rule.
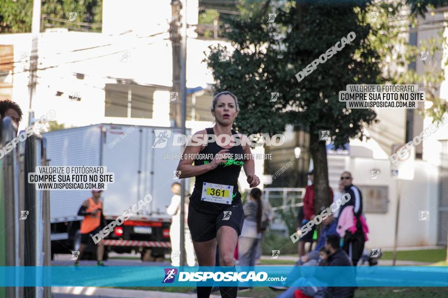
[[[300,229],[304,224],[313,220],[316,216],[316,205],[314,204],[314,170],[311,170],[308,173],[308,177],[311,180],[311,185],[306,186],[305,195],[303,196],[303,218],[299,219],[297,229]],[[330,202],[333,202],[333,190],[330,187]],[[300,214],[300,212],[299,212]],[[313,243],[313,235],[316,226],[313,225],[313,229],[305,234],[303,237],[300,237],[298,244],[298,252],[299,258],[305,254],[305,243],[311,242]]]

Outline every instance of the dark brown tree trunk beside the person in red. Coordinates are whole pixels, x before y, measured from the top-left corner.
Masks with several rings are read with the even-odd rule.
[[[311,156],[314,164],[314,205],[316,215],[322,207],[330,206],[330,191],[328,183],[328,162],[325,141],[319,141],[318,131],[310,129]]]

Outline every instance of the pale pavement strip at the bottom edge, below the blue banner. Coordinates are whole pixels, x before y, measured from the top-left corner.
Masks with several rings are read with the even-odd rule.
[[[194,293],[174,293],[174,292],[158,292],[158,291],[143,291],[143,290],[129,290],[129,289],[113,289],[101,287],[51,287],[53,298],[192,298],[197,295]],[[215,292],[216,293],[216,292]],[[210,298],[220,298],[218,293],[211,294]]]

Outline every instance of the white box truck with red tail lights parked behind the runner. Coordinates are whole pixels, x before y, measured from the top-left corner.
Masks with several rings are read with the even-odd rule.
[[[170,252],[171,216],[166,214],[166,207],[173,196],[171,184],[179,182],[173,180],[179,159],[172,157],[180,156],[182,146],[158,138],[155,130],[160,129],[168,135],[181,133],[180,128],[173,127],[95,124],[43,134],[50,166],[101,165],[115,174],[115,183],[109,183],[101,195],[107,224],[145,195],[153,197],[105,238],[105,259],[109,251],[133,250],[145,260],[160,260]],[[155,142],[166,142],[166,146],[152,148],[158,147]],[[188,189],[188,179],[185,185]],[[91,195],[90,190],[50,190],[52,257],[79,247],[82,217],[77,212]],[[83,258],[96,258],[95,246],[88,247]]]

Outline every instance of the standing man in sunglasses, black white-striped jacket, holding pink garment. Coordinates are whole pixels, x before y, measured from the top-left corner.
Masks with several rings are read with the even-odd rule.
[[[351,218],[354,218],[354,221],[356,222],[356,231],[354,231],[354,233],[349,229],[345,231],[342,248],[350,256],[353,266],[356,266],[362,256],[366,238],[364,234],[364,227],[361,223],[362,194],[359,188],[353,185],[352,181],[353,177],[350,172],[345,171],[341,174],[341,183],[344,186],[344,195],[350,195],[350,200],[341,205],[339,209],[338,227],[345,226],[345,223],[342,221],[344,218],[347,218],[345,216],[347,212],[344,212],[344,209],[350,206],[350,209],[353,209],[353,212],[350,211],[351,215],[349,215],[349,221],[352,220]],[[351,222],[351,225],[353,225],[353,221]]]

